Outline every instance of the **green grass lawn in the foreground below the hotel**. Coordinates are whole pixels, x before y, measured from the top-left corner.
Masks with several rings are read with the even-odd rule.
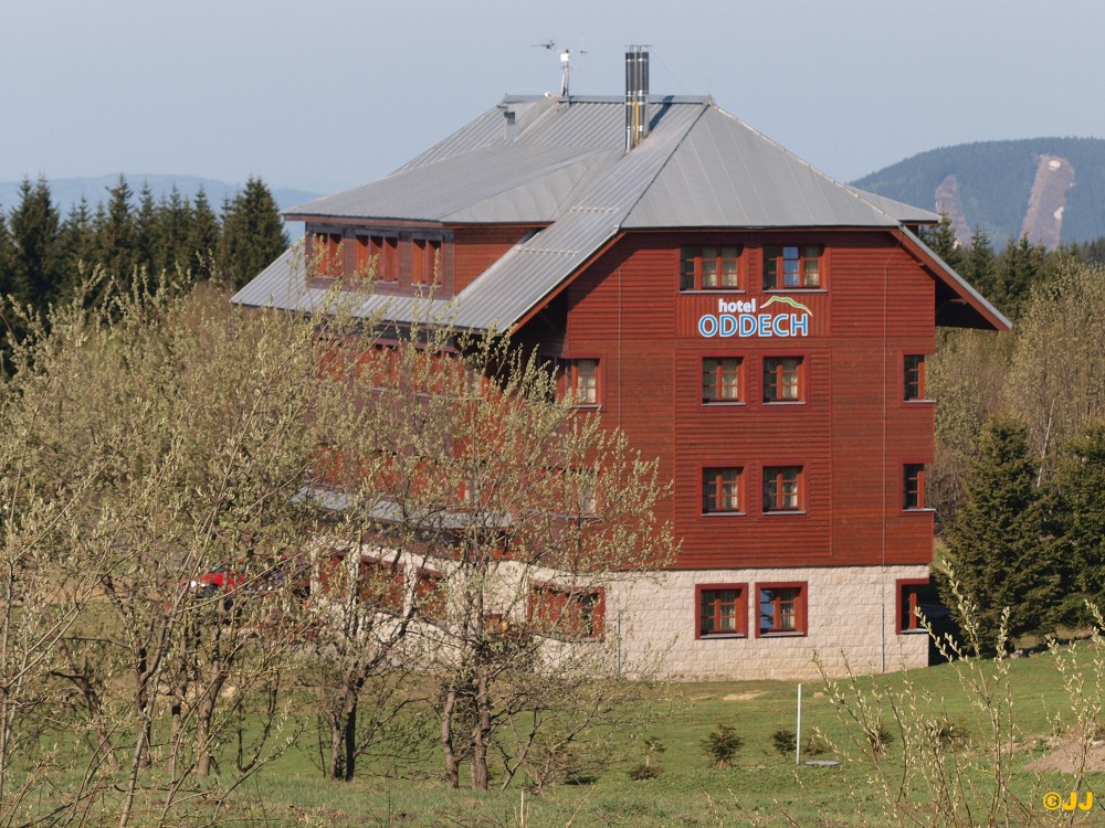
[[[1088,660],[1091,650],[1080,645]],[[1028,816],[1013,825],[1040,819],[1048,824],[1055,815],[1041,804],[1048,790],[1070,792],[1071,777],[1030,773],[1025,765],[1048,750],[1046,741],[1056,730],[1056,715],[1072,720],[1071,705],[1054,657],[1036,654],[1009,664],[1010,697],[1014,720],[1015,749],[1011,788],[1024,803]],[[961,668],[959,668],[961,669]],[[987,675],[992,662],[983,662]],[[1099,692],[1091,678],[1086,693]],[[972,757],[978,768],[967,773],[987,795],[988,781],[986,722],[988,714],[965,692],[957,668],[945,665],[873,679],[861,678],[859,687],[902,693],[907,683],[915,688],[920,711],[914,716],[947,720],[967,734],[957,750]],[[803,735],[814,728],[831,740],[848,744],[844,729],[818,682],[803,686]],[[845,697],[849,692],[845,691]],[[304,749],[293,751],[263,774],[249,781],[224,805],[227,821],[243,819],[265,825],[318,826],[747,826],[830,825],[880,826],[888,824],[883,810],[886,795],[872,783],[865,766],[843,758],[836,767],[796,765],[793,754],[782,756],[771,734],[782,728],[794,730],[796,682],[745,681],[698,682],[659,688],[655,719],[640,733],[623,733],[608,752],[609,760],[582,784],[566,784],[540,795],[523,794],[518,786],[507,792],[477,794],[451,790],[439,777],[439,760],[428,754],[407,778],[364,775],[351,783],[322,778]],[[1002,691],[994,696],[1003,705]],[[928,701],[925,701],[925,700]],[[893,715],[883,708],[881,718],[895,734]],[[702,749],[706,735],[719,724],[729,724],[743,739],[732,767],[709,766]],[[634,782],[628,771],[644,757],[643,739],[655,737],[663,745],[652,763],[662,771],[655,778]],[[804,740],[803,740],[804,741]],[[859,751],[849,745],[853,760]],[[828,754],[819,760],[834,758]],[[890,778],[896,785],[903,766],[903,744],[895,737],[887,745]],[[462,776],[462,779],[464,777]],[[1105,777],[1088,776],[1088,789],[1099,785],[1105,802]],[[939,825],[928,816],[929,794],[917,788],[920,825]],[[970,797],[967,797],[970,799]],[[789,815],[789,816],[788,816]],[[1072,815],[1065,816],[1067,820]],[[1074,825],[1105,825],[1093,821],[1105,813],[1075,813]],[[1072,824],[1070,821],[1065,824]]]

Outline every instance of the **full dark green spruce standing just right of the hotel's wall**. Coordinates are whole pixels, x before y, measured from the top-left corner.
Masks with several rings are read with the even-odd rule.
[[[990,421],[965,482],[966,501],[947,533],[948,562],[977,604],[983,649],[994,647],[1004,608],[1010,611],[1007,631],[1019,636],[1041,630],[1061,597],[1035,478],[1025,427],[1014,420]],[[958,615],[947,584],[941,593]]]

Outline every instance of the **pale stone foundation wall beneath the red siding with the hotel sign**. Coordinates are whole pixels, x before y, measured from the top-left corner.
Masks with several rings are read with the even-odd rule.
[[[818,676],[817,652],[828,672],[890,672],[928,664],[928,636],[896,631],[896,581],[928,577],[928,567],[829,566],[660,572],[615,580],[606,592],[608,640],[627,673],[664,678],[799,679]],[[757,583],[802,582],[807,634],[756,637]],[[695,637],[696,584],[745,584],[748,635]]]

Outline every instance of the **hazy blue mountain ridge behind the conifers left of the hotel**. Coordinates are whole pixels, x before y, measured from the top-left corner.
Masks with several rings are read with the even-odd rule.
[[[244,183],[230,183],[228,181],[220,181],[219,179],[200,178],[198,176],[124,173],[124,178],[126,178],[130,189],[135,192],[135,206],[137,206],[138,193],[144,184],[149,185],[155,201],[159,201],[162,195],[168,197],[173,185],[176,185],[181,197],[191,201],[194,200],[196,193],[202,187],[207,193],[211,209],[217,213],[221,211],[224,199],[233,199],[245,187]],[[81,201],[82,195],[87,199],[90,210],[95,211],[96,204],[99,202],[106,204],[108,199],[107,191],[118,182],[119,173],[117,172],[109,176],[46,179],[46,183],[50,184],[51,198],[63,217]],[[21,183],[22,181],[0,181],[0,209],[4,213],[11,212],[12,208],[19,205],[19,188]],[[313,201],[322,195],[322,193],[296,190],[290,187],[273,187],[269,181],[265,181],[265,185],[269,187],[282,211],[297,204],[303,204],[306,201]]]

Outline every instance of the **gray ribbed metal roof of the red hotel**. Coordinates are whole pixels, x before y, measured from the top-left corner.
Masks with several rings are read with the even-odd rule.
[[[936,220],[832,180],[711,98],[654,96],[649,137],[624,152],[623,106],[621,98],[506,97],[391,176],[290,214],[547,224],[450,301],[357,296],[359,314],[449,318],[473,329],[517,323],[623,230],[895,229]],[[306,287],[294,254],[233,298],[290,310],[325,300],[324,290]]]

